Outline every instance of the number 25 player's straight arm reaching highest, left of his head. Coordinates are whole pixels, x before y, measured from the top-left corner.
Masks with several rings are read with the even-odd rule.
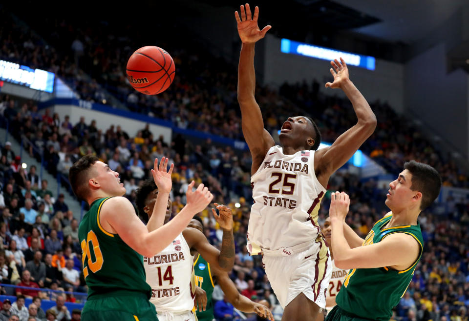
[[[260,30],[257,25],[259,8],[251,16],[251,8],[241,5],[241,16],[235,12],[239,38],[242,41],[238,65],[238,102],[241,108],[241,125],[253,157],[252,172],[256,172],[270,147],[275,145],[272,136],[264,129],[264,121],[259,105],[254,98],[256,90],[256,72],[254,70],[254,46],[257,40],[264,38],[270,25]]]

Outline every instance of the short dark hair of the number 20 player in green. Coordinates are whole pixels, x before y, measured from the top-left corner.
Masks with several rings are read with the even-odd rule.
[[[86,201],[89,194],[88,180],[91,166],[99,161],[96,156],[86,155],[76,161],[68,172],[68,181],[72,186],[73,193],[79,200]]]

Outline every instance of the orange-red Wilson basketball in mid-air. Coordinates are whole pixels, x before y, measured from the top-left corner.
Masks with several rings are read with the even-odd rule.
[[[156,95],[168,89],[174,74],[174,61],[166,50],[159,47],[142,47],[127,62],[130,85],[146,95]]]

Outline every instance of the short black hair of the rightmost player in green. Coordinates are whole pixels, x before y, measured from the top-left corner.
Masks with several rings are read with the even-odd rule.
[[[422,193],[422,202],[420,210],[423,211],[436,200],[440,194],[441,177],[437,170],[430,165],[419,163],[417,161],[407,161],[404,168],[412,174],[412,191]]]

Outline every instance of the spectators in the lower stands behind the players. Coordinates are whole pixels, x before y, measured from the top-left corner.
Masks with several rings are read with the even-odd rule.
[[[0,100],[14,111],[23,108],[11,97],[0,96]],[[206,184],[215,195],[214,201],[228,204],[234,212],[237,255],[231,277],[237,288],[254,300],[266,299],[272,306],[278,306],[260,257],[249,256],[245,248],[252,193],[249,153],[239,154],[230,147],[215,147],[210,140],[194,145],[181,135],[176,135],[171,142],[164,141],[162,137],[154,138],[148,126],[139,129],[135,135],[119,126],[99,130],[95,120],[81,119],[76,124],[70,124],[67,119],[50,122],[51,116],[45,112],[34,120],[29,112],[34,104],[26,103],[25,106],[26,111],[20,114],[6,113],[14,115],[13,120],[17,118],[16,123],[21,124],[11,130],[25,133],[29,123],[43,128],[47,139],[44,136],[36,138],[32,144],[48,147],[56,154],[56,157],[47,158],[46,168],[62,168],[65,175],[69,168],[65,163],[71,164],[88,153],[95,154],[121,174],[128,199],[135,201],[139,183],[151,177],[149,170],[154,159],[169,157],[170,163],[174,163],[173,215],[184,206],[190,181]],[[68,129],[60,134],[59,129],[65,127]],[[21,282],[29,286],[37,283],[39,287],[85,291],[80,276],[78,221],[68,210],[63,195],[54,195],[47,189],[47,181],[39,180],[36,168],[31,166],[26,172],[21,166],[15,166],[17,156],[9,145],[6,143],[3,147],[0,161],[4,203],[0,237],[5,249],[4,255],[0,255],[0,263],[4,261],[4,283]],[[59,155],[61,149],[63,156]],[[48,164],[55,160],[57,163]],[[341,170],[330,181],[322,201],[320,221],[327,213],[330,192],[346,191],[352,200],[348,223],[363,237],[386,212],[387,188],[378,186],[373,180],[361,181],[347,170]],[[452,320],[453,315],[464,315],[466,312],[463,311],[469,305],[469,239],[465,233],[469,225],[468,204],[448,199],[443,214],[433,212],[432,209],[425,211],[420,219],[426,241],[424,255],[406,296],[396,309],[396,320],[444,320],[443,317]],[[219,245],[220,230],[209,210],[199,215],[206,222],[207,238]],[[46,276],[42,280],[38,273],[43,275],[44,270]],[[223,300],[221,289],[217,287],[213,297]]]

